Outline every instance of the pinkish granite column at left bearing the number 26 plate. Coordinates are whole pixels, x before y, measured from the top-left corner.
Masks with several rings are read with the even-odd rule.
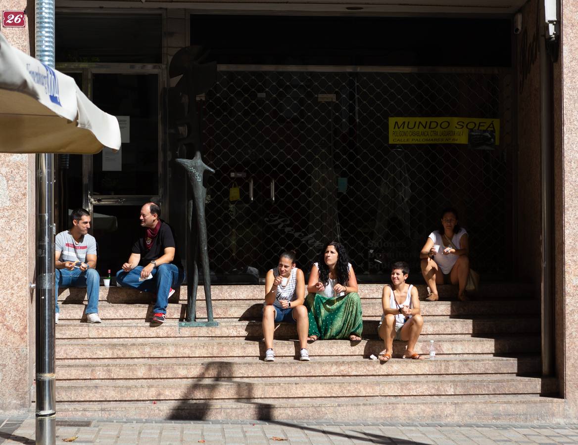
[[[1,31],[29,54],[34,1],[3,0],[1,6],[26,10],[26,27]],[[0,412],[5,413],[30,407],[34,381],[34,294],[28,287],[35,265],[34,174],[34,155],[0,154]]]

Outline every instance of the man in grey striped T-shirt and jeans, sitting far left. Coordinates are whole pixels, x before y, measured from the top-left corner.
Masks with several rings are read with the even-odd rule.
[[[101,323],[98,316],[100,276],[97,270],[97,241],[88,234],[90,213],[83,208],[72,212],[72,227],[56,235],[55,239],[55,298],[58,323],[58,286],[86,287],[88,323]]]

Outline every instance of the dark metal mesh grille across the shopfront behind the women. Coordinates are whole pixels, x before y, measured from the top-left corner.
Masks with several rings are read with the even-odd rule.
[[[388,117],[501,117],[501,89],[484,73],[221,70],[198,101],[217,170],[206,206],[212,271],[263,276],[286,248],[308,271],[321,242],[341,240],[358,275],[389,274],[392,260],[415,273],[439,211],[453,205],[473,267],[505,272],[495,252],[510,233],[507,125],[493,150],[388,144]]]

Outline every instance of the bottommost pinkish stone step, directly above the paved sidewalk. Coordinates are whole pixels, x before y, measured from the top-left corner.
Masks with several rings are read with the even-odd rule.
[[[257,401],[60,402],[59,417],[560,423],[564,399],[537,395],[308,398]]]

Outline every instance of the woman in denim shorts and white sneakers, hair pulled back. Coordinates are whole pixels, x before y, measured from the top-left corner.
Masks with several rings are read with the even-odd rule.
[[[279,264],[267,272],[265,278],[265,303],[263,305],[263,335],[265,337],[265,361],[275,361],[273,332],[275,323],[297,323],[301,361],[309,361],[307,351],[307,309],[305,300],[305,277],[295,264],[295,251],[281,253]]]

